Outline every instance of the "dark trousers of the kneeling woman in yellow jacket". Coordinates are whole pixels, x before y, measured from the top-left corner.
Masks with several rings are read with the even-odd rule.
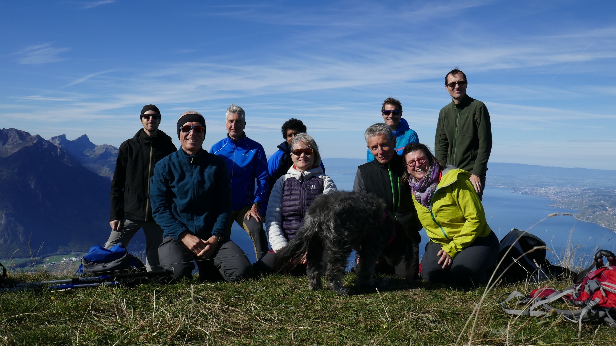
[[[429,242],[421,258],[421,277],[431,283],[477,286],[487,283],[498,259],[498,238],[490,231],[487,237],[476,238],[453,258],[452,266],[443,269],[437,256],[442,246]]]

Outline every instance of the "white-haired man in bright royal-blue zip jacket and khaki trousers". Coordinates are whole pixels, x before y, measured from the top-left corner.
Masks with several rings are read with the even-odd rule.
[[[267,206],[267,159],[263,146],[246,136],[246,112],[231,104],[225,114],[227,137],[212,146],[210,152],[227,163],[231,178],[233,211],[227,236],[233,222],[243,227],[253,240],[257,260],[267,252],[267,238],[263,229]],[[256,181],[256,192],[255,184]]]

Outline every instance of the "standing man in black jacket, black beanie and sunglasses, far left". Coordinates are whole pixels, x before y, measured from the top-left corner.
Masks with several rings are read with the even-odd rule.
[[[105,248],[116,244],[128,246],[139,229],[145,234],[145,265],[148,270],[160,269],[158,246],[163,230],[152,218],[150,178],[156,162],[176,152],[171,137],[161,130],[158,107],[147,104],[141,109],[139,120],[143,128],[120,145],[113,179],[111,180],[111,234]]]

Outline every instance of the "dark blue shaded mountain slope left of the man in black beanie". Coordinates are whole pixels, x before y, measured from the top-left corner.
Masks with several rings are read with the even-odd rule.
[[[0,130],[0,258],[84,251],[108,235],[109,179],[39,135]]]

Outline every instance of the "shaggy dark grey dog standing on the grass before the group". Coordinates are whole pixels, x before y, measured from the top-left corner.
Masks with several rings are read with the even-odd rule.
[[[355,249],[360,261],[357,285],[376,286],[372,278],[375,264],[396,224],[383,200],[363,192],[323,194],[310,205],[304,220],[296,237],[276,254],[278,270],[298,264],[307,253],[309,288],[321,288],[325,271],[328,288],[347,295],[349,288],[342,286],[342,274]]]

